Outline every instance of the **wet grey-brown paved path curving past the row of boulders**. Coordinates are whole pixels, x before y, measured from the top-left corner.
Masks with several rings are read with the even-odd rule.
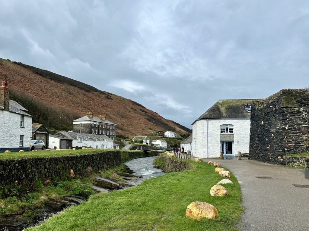
[[[304,170],[248,159],[203,159],[209,160],[229,168],[240,183],[245,209],[239,225],[241,230],[309,230],[309,188],[293,185],[309,185]]]

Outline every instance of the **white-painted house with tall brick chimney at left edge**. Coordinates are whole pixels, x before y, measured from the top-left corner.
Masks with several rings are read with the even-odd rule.
[[[0,87],[0,152],[30,150],[32,116],[17,102],[10,100],[10,89],[2,80]]]

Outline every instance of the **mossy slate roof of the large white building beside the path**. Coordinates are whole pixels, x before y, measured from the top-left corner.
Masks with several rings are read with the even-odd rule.
[[[197,118],[201,119],[250,119],[251,113],[247,113],[245,106],[251,105],[252,101],[263,99],[229,99],[218,100],[210,109]]]

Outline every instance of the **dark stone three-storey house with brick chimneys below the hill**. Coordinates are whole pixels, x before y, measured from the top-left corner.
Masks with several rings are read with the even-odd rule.
[[[85,116],[73,120],[73,132],[106,135],[116,140],[116,124],[108,121],[105,115],[94,117],[92,112],[87,112]]]

